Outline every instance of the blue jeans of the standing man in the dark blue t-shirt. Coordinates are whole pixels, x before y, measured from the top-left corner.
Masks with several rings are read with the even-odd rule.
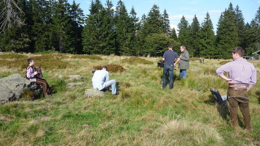
[[[173,65],[164,65],[162,72],[162,88],[166,88],[166,76],[169,76],[169,89],[173,88]]]

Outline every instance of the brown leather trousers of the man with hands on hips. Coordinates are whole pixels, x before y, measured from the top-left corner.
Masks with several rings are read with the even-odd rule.
[[[231,126],[238,126],[238,106],[243,115],[244,124],[248,130],[251,129],[251,118],[249,113],[249,97],[247,90],[228,89],[227,105],[230,113]]]

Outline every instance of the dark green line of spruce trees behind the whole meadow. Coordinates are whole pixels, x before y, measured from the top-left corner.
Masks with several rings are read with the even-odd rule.
[[[230,58],[230,49],[238,46],[247,56],[260,50],[260,7],[255,18],[245,23],[239,6],[230,3],[219,17],[216,34],[208,12],[201,23],[196,15],[191,24],[182,16],[177,35],[166,9],[161,13],[156,4],[141,18],[133,6],[128,13],[121,0],[115,9],[110,0],[105,6],[92,0],[86,16],[79,5],[67,0],[3,0],[0,49],[149,57],[162,56],[171,43],[176,52],[185,45],[191,57],[223,59]]]

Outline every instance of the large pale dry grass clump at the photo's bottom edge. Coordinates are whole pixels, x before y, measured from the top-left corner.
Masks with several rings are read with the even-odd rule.
[[[143,145],[223,145],[223,138],[209,125],[173,120],[163,124],[143,142]]]

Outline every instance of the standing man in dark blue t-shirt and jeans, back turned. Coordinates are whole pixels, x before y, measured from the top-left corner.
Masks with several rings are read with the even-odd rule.
[[[173,50],[173,44],[168,45],[168,51],[164,52],[162,57],[163,72],[162,72],[162,88],[166,88],[166,76],[169,76],[169,89],[173,88],[173,67],[180,61],[180,58],[176,52]],[[175,58],[177,61],[174,63]]]

